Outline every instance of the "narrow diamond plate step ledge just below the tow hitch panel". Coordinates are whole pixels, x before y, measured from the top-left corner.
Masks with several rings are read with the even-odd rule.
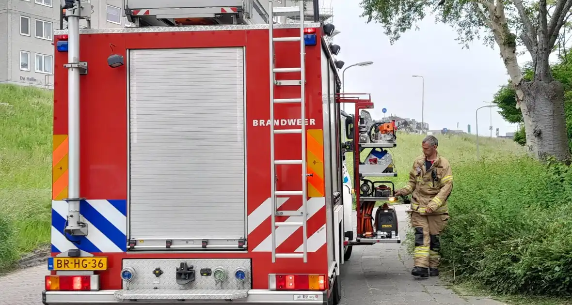
[[[248,290],[119,290],[120,300],[237,300],[248,296]]]

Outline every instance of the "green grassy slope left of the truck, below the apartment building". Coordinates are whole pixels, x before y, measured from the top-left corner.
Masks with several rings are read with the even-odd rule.
[[[53,98],[0,85],[0,271],[49,243]]]

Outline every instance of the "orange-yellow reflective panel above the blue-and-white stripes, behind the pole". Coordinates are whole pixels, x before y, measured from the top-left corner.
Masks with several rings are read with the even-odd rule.
[[[54,135],[53,143],[51,198],[62,200],[67,198],[67,135]]]

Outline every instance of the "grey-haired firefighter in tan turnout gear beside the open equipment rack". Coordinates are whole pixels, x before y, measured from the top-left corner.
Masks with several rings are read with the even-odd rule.
[[[412,275],[439,275],[439,234],[449,219],[447,199],[453,188],[451,165],[437,152],[437,138],[423,139],[423,155],[415,159],[406,186],[395,196],[411,196],[411,226],[415,229]]]

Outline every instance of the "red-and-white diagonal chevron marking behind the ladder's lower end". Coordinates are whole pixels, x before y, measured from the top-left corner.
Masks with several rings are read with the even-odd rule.
[[[287,203],[289,198],[276,198],[277,208]],[[295,203],[293,203],[295,204]],[[282,210],[295,210],[291,207]],[[301,205],[301,204],[298,204]],[[266,199],[256,210],[248,215],[248,244],[253,252],[272,251],[271,219],[272,215],[271,199]],[[296,210],[301,211],[301,206]],[[314,197],[307,201],[307,232],[308,252],[316,252],[326,243],[325,230],[325,198]],[[299,222],[300,216],[289,216],[284,222]],[[302,238],[301,227],[277,227],[276,228],[276,248],[278,252],[301,252]]]

